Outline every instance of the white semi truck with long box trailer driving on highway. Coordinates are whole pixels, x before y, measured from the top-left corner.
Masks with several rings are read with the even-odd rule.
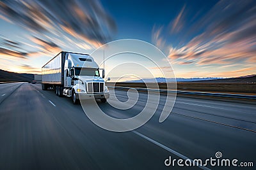
[[[105,70],[99,68],[92,56],[60,52],[42,67],[42,90],[54,89],[56,96],[71,97],[74,104],[84,99],[105,103],[109,90],[104,77]]]

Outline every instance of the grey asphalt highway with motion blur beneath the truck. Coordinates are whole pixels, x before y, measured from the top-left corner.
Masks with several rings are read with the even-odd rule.
[[[125,101],[124,90],[116,94]],[[133,117],[145,95],[130,110],[99,106],[112,117]],[[173,169],[164,166],[169,156],[205,160],[216,152],[254,162],[255,169],[255,110],[256,104],[177,97],[163,123],[158,110],[134,131],[110,132],[93,124],[80,105],[40,84],[0,84],[0,169]]]

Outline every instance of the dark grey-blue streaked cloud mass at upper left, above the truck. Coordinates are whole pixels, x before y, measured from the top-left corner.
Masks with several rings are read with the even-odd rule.
[[[63,32],[99,43],[116,30],[99,1],[1,1],[0,14],[38,34]]]

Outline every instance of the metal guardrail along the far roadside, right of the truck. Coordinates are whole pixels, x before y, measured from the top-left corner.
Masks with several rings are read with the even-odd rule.
[[[182,90],[161,90],[161,89],[143,89],[143,88],[134,88],[134,87],[114,87],[108,86],[108,88],[115,89],[136,89],[138,91],[152,91],[152,92],[177,92],[177,94],[189,94],[189,95],[198,95],[198,96],[214,96],[214,97],[229,97],[229,98],[239,98],[239,99],[256,99],[256,96],[253,95],[244,95],[244,94],[225,94],[225,93],[209,93],[209,92],[189,92]]]

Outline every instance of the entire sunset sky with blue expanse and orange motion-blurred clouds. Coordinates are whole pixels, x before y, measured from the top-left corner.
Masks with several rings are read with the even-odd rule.
[[[157,46],[176,77],[244,76],[256,74],[255,30],[250,0],[0,1],[0,69],[40,74],[61,50],[92,53],[128,38]]]

